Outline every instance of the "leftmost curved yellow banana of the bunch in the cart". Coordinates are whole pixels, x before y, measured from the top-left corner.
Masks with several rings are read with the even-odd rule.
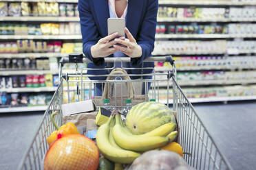
[[[98,149],[100,152],[113,162],[129,164],[133,162],[140,154],[134,151],[128,151],[125,149],[120,149],[120,147],[115,147],[111,145],[109,141],[109,125],[113,121],[113,117],[109,118],[107,123],[101,125],[98,128],[97,136],[96,136],[96,143],[98,145]]]

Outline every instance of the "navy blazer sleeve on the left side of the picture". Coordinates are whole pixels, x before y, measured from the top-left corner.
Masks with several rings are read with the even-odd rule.
[[[79,0],[78,11],[81,23],[81,33],[83,36],[83,53],[89,60],[94,62],[96,65],[104,63],[103,58],[93,58],[91,53],[91,47],[96,45],[98,40],[101,38],[98,34],[98,29],[94,22],[94,17],[90,9],[89,1]]]

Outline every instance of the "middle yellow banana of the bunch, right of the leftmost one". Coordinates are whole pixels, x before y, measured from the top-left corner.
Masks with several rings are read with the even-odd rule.
[[[167,145],[169,138],[164,136],[139,136],[131,135],[125,132],[121,125],[120,114],[116,114],[116,125],[112,130],[116,143],[124,148],[132,151],[148,151]]]

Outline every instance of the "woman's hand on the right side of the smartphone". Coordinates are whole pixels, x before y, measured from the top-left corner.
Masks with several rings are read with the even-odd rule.
[[[142,49],[140,45],[137,44],[127,27],[125,27],[125,34],[128,39],[122,40],[121,38],[116,38],[115,41],[116,43],[125,45],[126,47],[122,47],[120,45],[114,45],[113,47],[116,50],[122,51],[122,53],[125,53],[130,58],[140,58],[142,56]]]

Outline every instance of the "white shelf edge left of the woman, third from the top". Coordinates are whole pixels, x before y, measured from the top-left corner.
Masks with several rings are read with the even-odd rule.
[[[56,58],[56,57],[67,57],[67,53],[0,53],[0,58]]]

